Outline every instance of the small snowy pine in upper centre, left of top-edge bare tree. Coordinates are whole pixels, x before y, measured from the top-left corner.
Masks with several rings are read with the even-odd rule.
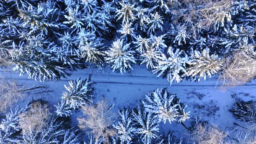
[[[151,13],[151,19],[148,22],[148,35],[152,35],[156,33],[156,29],[159,29],[161,31],[163,31],[163,18],[160,14],[158,14],[158,12],[156,12],[155,14]]]

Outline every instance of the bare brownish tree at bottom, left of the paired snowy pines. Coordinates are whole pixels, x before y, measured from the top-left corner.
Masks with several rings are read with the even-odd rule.
[[[95,140],[102,138],[108,143],[108,138],[115,135],[112,125],[117,114],[111,111],[112,108],[105,99],[98,101],[97,105],[83,105],[82,111],[86,118],[78,118],[79,128],[90,130]]]

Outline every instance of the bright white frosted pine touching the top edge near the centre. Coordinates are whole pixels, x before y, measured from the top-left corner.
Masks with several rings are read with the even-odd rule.
[[[135,5],[125,2],[124,0],[122,2],[119,2],[120,6],[121,6],[121,10],[116,10],[116,17],[118,17],[117,20],[121,20],[122,19],[122,24],[125,24],[126,21],[128,21],[128,23],[133,22],[136,17],[135,17]]]

